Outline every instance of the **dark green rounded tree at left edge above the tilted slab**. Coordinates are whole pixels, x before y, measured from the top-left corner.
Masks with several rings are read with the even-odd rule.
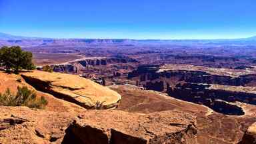
[[[0,49],[1,66],[4,66],[8,72],[13,70],[18,73],[21,69],[35,69],[32,58],[31,52],[23,51],[19,46],[2,47]]]

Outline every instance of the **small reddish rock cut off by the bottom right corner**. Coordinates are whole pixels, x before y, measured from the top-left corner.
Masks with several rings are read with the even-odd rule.
[[[253,123],[247,131],[245,135],[243,135],[243,139],[238,144],[255,144],[256,143],[256,123]]]

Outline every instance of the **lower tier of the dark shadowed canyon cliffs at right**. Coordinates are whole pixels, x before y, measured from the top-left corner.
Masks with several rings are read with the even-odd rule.
[[[143,87],[154,91],[165,92],[176,99],[205,105],[214,111],[225,115],[245,114],[241,107],[234,104],[237,101],[256,105],[256,93],[254,87],[235,87],[182,82],[177,83],[175,86],[170,86],[169,83],[166,83],[165,81],[147,82]]]

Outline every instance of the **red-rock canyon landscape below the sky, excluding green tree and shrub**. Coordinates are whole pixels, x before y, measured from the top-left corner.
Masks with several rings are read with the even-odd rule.
[[[1,106],[2,143],[255,141],[253,43],[131,39],[0,43],[33,52],[37,65],[37,70],[19,75],[0,72],[0,93],[25,85],[48,101],[43,110]],[[45,65],[53,73],[43,72]]]

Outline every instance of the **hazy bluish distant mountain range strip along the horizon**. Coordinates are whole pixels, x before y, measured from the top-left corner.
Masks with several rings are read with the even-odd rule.
[[[53,39],[40,37],[23,37],[0,33],[0,46],[3,45],[21,45],[23,47],[31,46],[49,46],[49,45],[86,45],[93,44],[173,44],[173,45],[256,45],[256,36],[241,39]]]

